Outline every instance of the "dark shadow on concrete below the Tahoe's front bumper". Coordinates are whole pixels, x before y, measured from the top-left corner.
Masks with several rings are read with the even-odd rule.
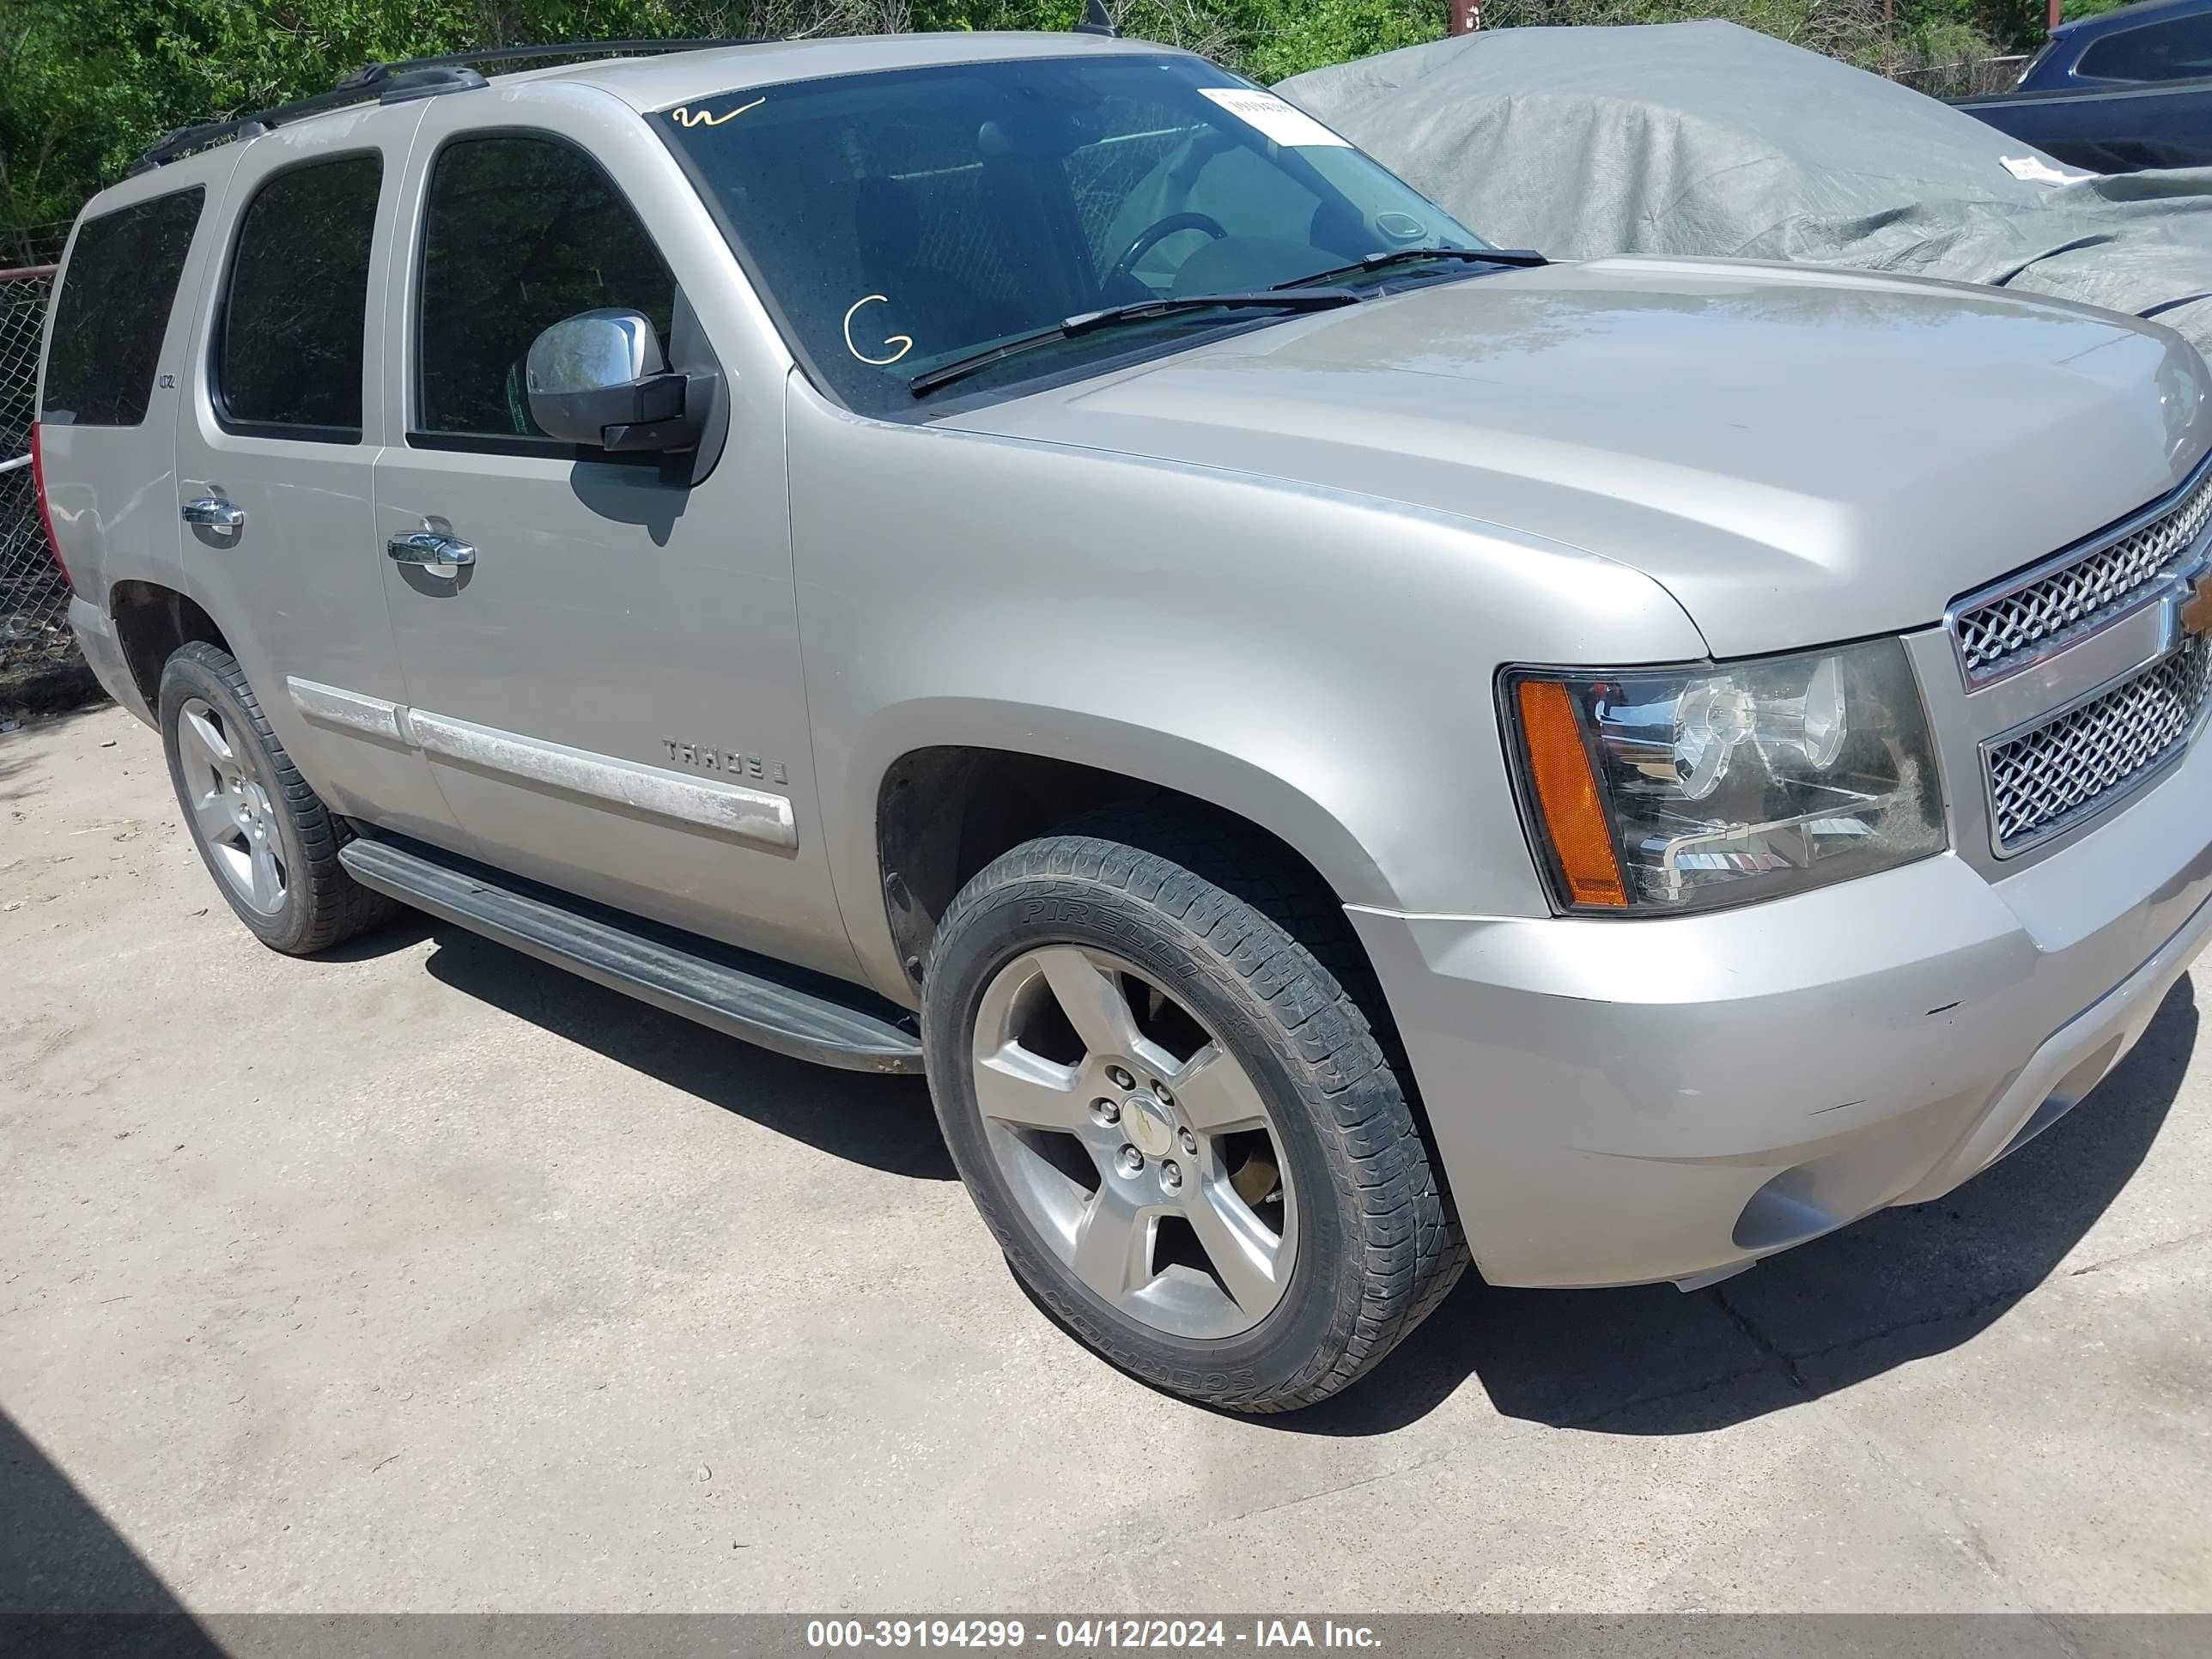
[[[2088,1099],[1933,1203],[1882,1210],[1690,1296],[1672,1285],[1495,1290],[1469,1279],[1374,1376],[1274,1422],[1389,1433],[1473,1376],[1509,1418],[1701,1433],[1953,1349],[2044,1283],[2119,1197],[2194,1044],[2183,978]]]

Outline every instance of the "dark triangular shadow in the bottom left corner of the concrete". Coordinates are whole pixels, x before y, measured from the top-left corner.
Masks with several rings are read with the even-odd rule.
[[[221,1659],[144,1557],[4,1411],[0,1650]]]

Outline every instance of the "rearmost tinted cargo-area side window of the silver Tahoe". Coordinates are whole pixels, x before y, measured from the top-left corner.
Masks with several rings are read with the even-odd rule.
[[[201,186],[86,219],[53,299],[40,420],[135,427],[208,192]]]

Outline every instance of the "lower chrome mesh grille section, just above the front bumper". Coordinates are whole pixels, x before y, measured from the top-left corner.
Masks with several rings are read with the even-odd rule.
[[[2112,805],[2181,754],[2212,688],[2212,644],[2183,644],[2042,726],[1984,745],[2000,854]]]

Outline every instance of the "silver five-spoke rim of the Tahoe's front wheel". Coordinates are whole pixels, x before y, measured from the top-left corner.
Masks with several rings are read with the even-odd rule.
[[[1026,951],[984,989],[971,1071],[1013,1201],[1102,1301],[1219,1340],[1283,1298],[1298,1194],[1281,1133],[1164,984],[1082,945]]]

